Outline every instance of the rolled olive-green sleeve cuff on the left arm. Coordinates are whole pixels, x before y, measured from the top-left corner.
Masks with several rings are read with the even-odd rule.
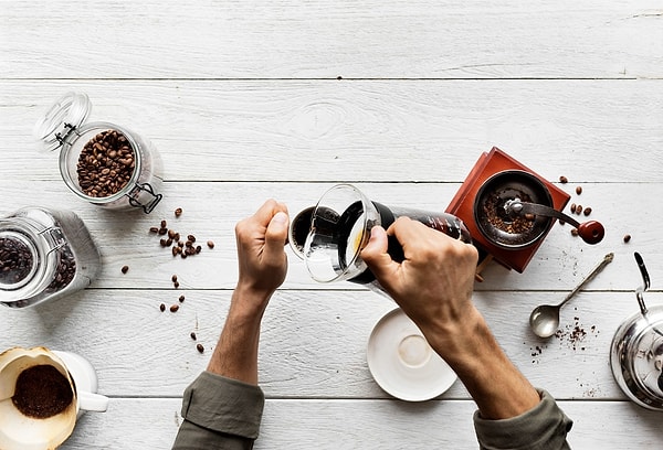
[[[172,449],[251,449],[264,404],[260,387],[203,372],[185,390]]]

